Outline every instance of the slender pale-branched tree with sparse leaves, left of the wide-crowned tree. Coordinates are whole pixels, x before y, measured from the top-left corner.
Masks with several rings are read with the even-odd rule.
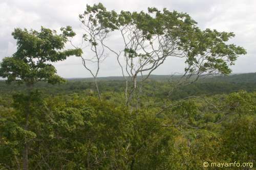
[[[97,78],[100,70],[100,63],[108,56],[108,54],[105,53],[103,42],[110,31],[115,29],[113,18],[116,16],[117,13],[115,11],[106,11],[105,7],[100,3],[94,6],[87,5],[87,9],[84,13],[79,15],[81,29],[83,31],[80,45],[75,45],[72,42],[72,38],[70,39],[71,44],[75,48],[81,48],[84,51],[84,55],[86,55],[86,57],[80,56],[82,65],[94,78],[94,84],[99,100],[101,100],[101,96]],[[72,31],[71,28],[69,29],[69,31]],[[90,56],[90,53],[88,54],[89,51],[92,52],[92,56]],[[94,66],[90,67],[90,64],[94,64]]]

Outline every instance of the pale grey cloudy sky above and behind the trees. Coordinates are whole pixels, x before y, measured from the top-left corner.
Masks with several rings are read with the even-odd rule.
[[[78,14],[86,5],[102,3],[108,10],[146,11],[147,7],[167,8],[188,13],[198,22],[201,29],[217,29],[234,32],[231,43],[243,46],[247,55],[241,56],[234,73],[256,72],[256,1],[253,0],[1,0],[0,1],[0,61],[16,51],[16,42],[11,36],[14,28],[40,29],[41,26],[59,30],[63,26],[80,29]],[[115,44],[113,44],[115,45]],[[111,55],[102,63],[99,76],[120,76],[120,69]],[[66,61],[54,63],[58,74],[65,78],[90,77],[79,58],[70,57]],[[93,67],[93,65],[91,65]],[[168,75],[182,72],[182,61],[168,60],[153,74]]]

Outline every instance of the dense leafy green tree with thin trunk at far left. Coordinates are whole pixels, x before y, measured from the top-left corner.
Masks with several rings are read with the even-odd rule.
[[[55,67],[48,62],[65,60],[69,56],[81,56],[81,50],[64,50],[65,43],[69,36],[75,34],[65,32],[57,34],[56,31],[41,27],[41,32],[27,29],[15,29],[12,33],[17,40],[17,52],[12,57],[6,57],[0,63],[0,77],[7,78],[7,83],[16,81],[26,83],[31,92],[32,86],[39,81],[46,81],[51,84],[65,81],[56,75]],[[28,94],[28,96],[33,93]],[[25,96],[25,98],[29,98]],[[15,99],[14,99],[15,100]],[[26,100],[27,101],[27,100]],[[24,113],[24,130],[29,130],[29,115],[31,114],[31,103],[29,100],[25,105]],[[28,169],[28,150],[29,143],[25,142],[23,153],[23,167]]]

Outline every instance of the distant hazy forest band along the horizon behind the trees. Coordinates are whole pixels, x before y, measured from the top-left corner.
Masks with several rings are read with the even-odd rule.
[[[162,98],[166,97],[170,87],[170,81],[179,79],[179,76],[161,76],[151,75],[144,86],[144,93],[146,96]],[[95,91],[93,78],[72,78],[67,79],[64,84],[51,85],[45,82],[39,82],[35,85],[37,89],[44,91],[44,93],[58,94],[58,93],[84,93]],[[140,81],[140,77],[138,77]],[[106,92],[122,92],[124,90],[123,77],[100,77],[98,78],[99,88]],[[0,81],[0,92],[4,94],[13,94],[17,91],[26,89],[25,85],[18,85],[13,83],[8,85],[5,81]],[[189,95],[213,95],[213,94],[228,94],[239,90],[246,90],[248,92],[256,91],[256,73],[248,74],[233,74],[230,76],[210,76],[199,81],[181,87],[169,96],[170,99],[179,100]],[[153,94],[154,91],[154,94]]]

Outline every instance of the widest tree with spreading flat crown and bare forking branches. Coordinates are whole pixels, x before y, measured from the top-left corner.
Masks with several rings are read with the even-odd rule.
[[[200,76],[211,74],[227,75],[231,72],[229,65],[234,64],[237,57],[246,54],[243,47],[227,44],[234,36],[233,33],[218,32],[217,30],[201,30],[197,22],[186,13],[160,11],[148,8],[148,12],[104,11],[102,4],[87,6],[84,15],[89,16],[101,32],[119,32],[123,39],[123,47],[111,46],[100,41],[116,55],[123,77],[128,76],[132,82],[130,92],[127,93],[126,104],[132,100],[137,89],[137,77],[142,76],[144,82],[167,58],[179,57],[185,60],[183,79],[187,82],[190,77],[196,81]],[[115,34],[115,38],[116,38]],[[105,39],[105,36],[101,37]],[[143,77],[143,75],[145,75]],[[191,80],[191,79],[189,79]],[[182,83],[178,83],[181,85]],[[141,83],[142,85],[142,83]],[[141,88],[140,88],[141,89]]]

